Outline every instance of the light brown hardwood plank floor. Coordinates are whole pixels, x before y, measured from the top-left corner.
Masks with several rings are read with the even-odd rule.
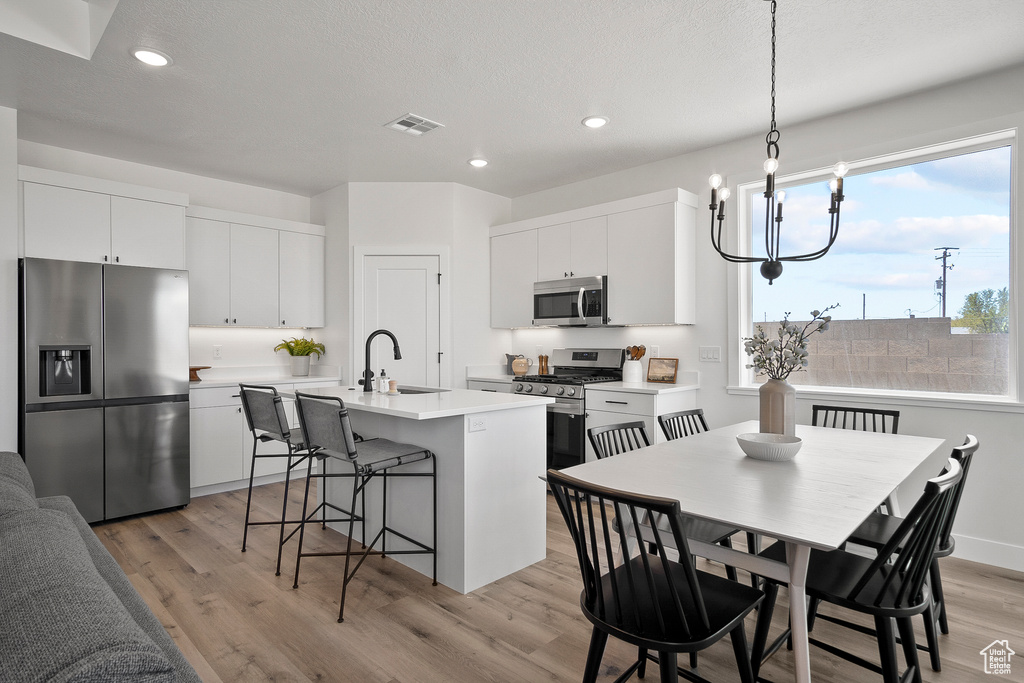
[[[254,492],[254,514],[280,514],[283,484]],[[276,531],[255,527],[240,552],[245,490],[193,500],[181,510],[103,524],[96,533],[127,572],[204,681],[579,681],[590,625],[580,612],[580,577],[571,542],[548,499],[548,556],[542,562],[469,595],[390,559],[370,558],[349,586],[345,623],[336,622],[342,558],[303,560],[292,590],[295,542],[274,577]],[[301,506],[294,485],[291,510]],[[339,548],[343,537],[309,527],[307,548]],[[720,567],[698,560],[699,567]],[[979,651],[1009,640],[1024,652],[1024,573],[954,558],[942,562],[950,635],[941,636],[943,670],[924,657],[925,681],[991,679]],[[774,631],[785,618],[785,591]],[[918,620],[920,622],[920,620]],[[753,620],[748,637],[753,635]],[[924,636],[919,626],[919,642]],[[877,660],[874,642],[819,622],[816,637]],[[774,635],[774,634],[773,634]],[[601,681],[613,680],[635,650],[613,639]],[[811,648],[819,682],[879,681],[879,677]],[[1024,680],[1024,654],[1013,661]],[[680,659],[682,661],[683,658]],[[656,680],[656,665],[647,680]],[[736,681],[728,638],[706,650],[698,672],[713,681]],[[778,683],[793,680],[784,648],[762,669]],[[635,680],[635,679],[634,679]]]

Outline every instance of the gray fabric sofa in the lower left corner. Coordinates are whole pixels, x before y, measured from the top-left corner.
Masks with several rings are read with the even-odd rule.
[[[71,499],[0,453],[0,680],[200,681]]]

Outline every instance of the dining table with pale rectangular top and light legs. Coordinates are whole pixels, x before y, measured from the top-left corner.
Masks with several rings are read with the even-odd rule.
[[[756,420],[741,422],[563,472],[591,484],[678,500],[684,515],[783,542],[785,562],[708,543],[691,541],[689,547],[694,555],[788,585],[795,678],[809,683],[805,582],[811,550],[839,548],[883,503],[898,514],[899,485],[919,468],[937,474],[948,451],[941,438],[797,425],[797,456],[763,461],[746,457],[736,440],[758,427]]]

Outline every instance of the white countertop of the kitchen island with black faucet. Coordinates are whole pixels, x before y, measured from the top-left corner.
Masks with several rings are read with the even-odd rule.
[[[309,393],[338,396],[349,410],[380,413],[410,420],[433,420],[472,413],[507,411],[529,405],[546,405],[554,398],[545,396],[515,396],[508,393],[450,389],[436,393],[411,393],[396,396],[365,392],[362,387],[319,387]],[[288,392],[284,392],[287,395]]]

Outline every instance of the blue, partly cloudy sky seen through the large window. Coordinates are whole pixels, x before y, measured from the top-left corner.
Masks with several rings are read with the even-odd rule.
[[[1010,283],[1010,146],[894,169],[848,175],[839,237],[816,261],[783,262],[769,286],[753,274],[755,322],[810,317],[831,304],[837,319],[937,317],[940,247],[950,249],[946,315],[965,297]],[[784,175],[780,159],[779,175]],[[829,191],[824,181],[786,187],[781,255],[827,243]],[[763,256],[765,201],[753,195],[755,255]]]

